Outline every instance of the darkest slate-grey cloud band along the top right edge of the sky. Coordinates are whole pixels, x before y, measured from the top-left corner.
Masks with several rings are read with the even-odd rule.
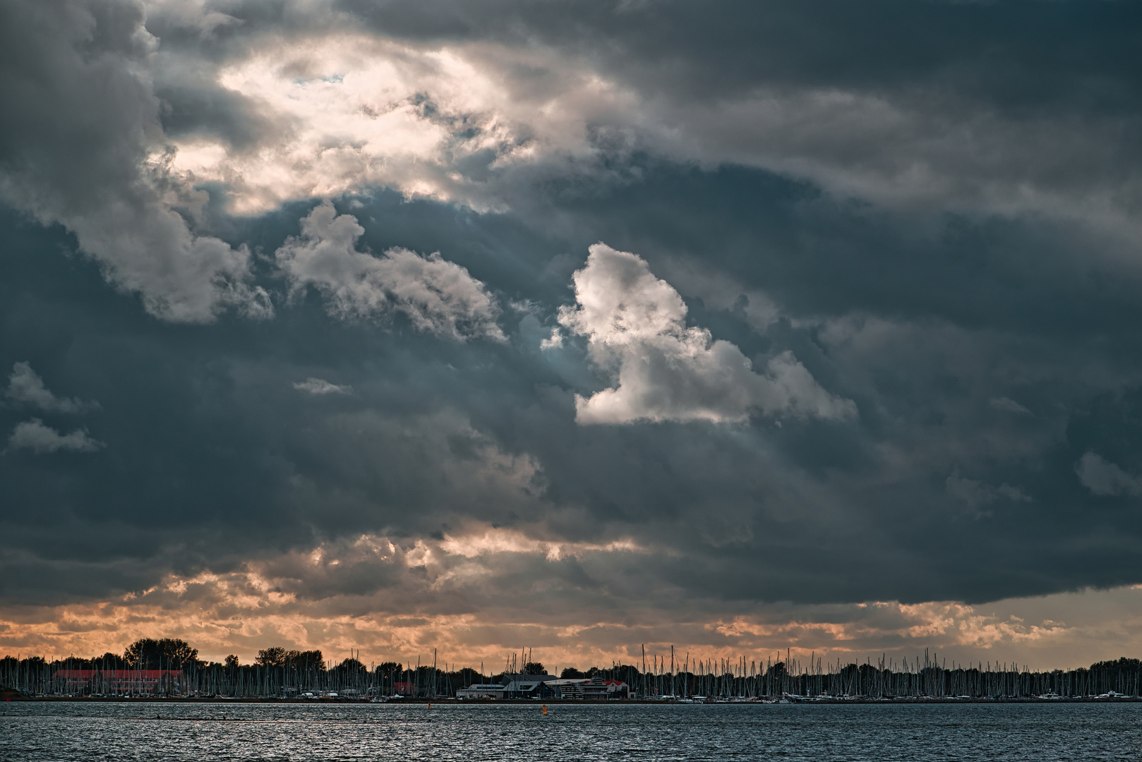
[[[216,7],[244,21],[262,5]],[[762,81],[888,90],[942,80],[1000,107],[1093,98],[1137,107],[1139,75],[1128,64],[1142,15],[1126,2],[339,0],[333,7],[410,39],[587,49],[624,77],[698,98]]]

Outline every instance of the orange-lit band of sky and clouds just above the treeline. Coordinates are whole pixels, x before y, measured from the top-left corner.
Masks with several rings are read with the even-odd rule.
[[[340,661],[351,649],[365,664],[400,661],[499,672],[506,659],[531,649],[548,668],[640,664],[648,658],[697,660],[783,658],[811,655],[849,664],[887,652],[912,658],[931,649],[955,660],[1002,659],[1035,668],[1073,667],[1142,650],[1142,586],[1012,599],[988,605],[956,602],[765,604],[746,613],[640,607],[616,616],[580,602],[549,610],[514,600],[484,599],[480,610],[450,611],[449,595],[463,594],[490,573],[502,556],[554,563],[565,554],[638,553],[628,543],[573,545],[538,543],[504,532],[445,537],[429,546],[401,550],[380,538],[321,547],[288,562],[248,564],[226,575],[169,577],[161,585],[120,600],[58,607],[9,608],[0,617],[0,652],[63,658],[122,652],[138,637],[179,637],[200,658],[236,655],[250,663],[271,645],[320,649]],[[355,555],[354,555],[355,554]],[[336,556],[336,558],[335,558]],[[287,589],[289,563],[311,573],[383,559],[399,570],[416,567],[427,588],[306,600]],[[484,566],[472,567],[482,561]],[[447,562],[447,563],[445,563]],[[434,567],[433,564],[439,564]],[[452,566],[449,566],[452,564]],[[458,566],[457,566],[458,564]],[[292,569],[289,573],[298,575]],[[418,577],[419,578],[419,577]],[[403,579],[403,578],[402,578]],[[451,586],[451,587],[450,587]],[[435,591],[436,595],[420,595]]]

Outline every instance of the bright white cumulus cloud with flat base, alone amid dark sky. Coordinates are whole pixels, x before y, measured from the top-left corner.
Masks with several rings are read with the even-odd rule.
[[[573,281],[578,304],[561,310],[560,323],[587,337],[593,360],[616,383],[576,398],[581,424],[738,422],[751,410],[856,415],[851,400],[822,388],[791,352],[757,374],[737,345],[714,340],[705,328],[687,328],[682,297],[635,254],[596,243]]]

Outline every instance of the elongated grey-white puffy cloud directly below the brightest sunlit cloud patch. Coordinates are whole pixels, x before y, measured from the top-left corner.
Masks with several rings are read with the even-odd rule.
[[[455,339],[504,340],[496,323],[499,306],[486,287],[440,254],[408,249],[375,256],[356,250],[364,233],[352,215],[329,201],[301,219],[301,235],[278,249],[278,265],[295,290],[316,288],[330,314],[343,319],[401,312],[424,331]]]

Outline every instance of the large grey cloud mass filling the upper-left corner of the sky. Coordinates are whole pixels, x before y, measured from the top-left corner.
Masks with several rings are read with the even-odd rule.
[[[0,14],[2,198],[75,233],[152,314],[268,314],[246,283],[249,252],[195,235],[164,198],[179,189],[167,183],[160,103],[143,73],[156,40],[142,5],[18,1]]]

